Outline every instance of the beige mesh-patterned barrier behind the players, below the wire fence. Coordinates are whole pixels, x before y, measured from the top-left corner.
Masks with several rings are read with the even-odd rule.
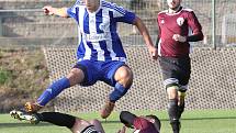
[[[125,47],[127,64],[134,73],[134,84],[116,103],[121,110],[165,110],[167,96],[160,68],[141,46]],[[44,48],[52,81],[68,74],[76,63],[76,47]],[[193,48],[192,74],[186,100],[187,110],[236,109],[236,48]],[[75,86],[63,91],[54,101],[63,112],[98,111],[112,87],[98,81],[94,86]]]

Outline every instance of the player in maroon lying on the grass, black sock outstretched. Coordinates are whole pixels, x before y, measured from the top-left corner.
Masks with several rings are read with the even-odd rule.
[[[31,114],[21,110],[13,110],[10,114],[14,119],[29,121],[32,124],[37,124],[43,121],[58,126],[66,126],[70,129],[72,133],[105,133],[101,122],[95,119],[87,121],[59,112]],[[128,111],[122,111],[120,120],[125,126],[134,129],[135,133],[159,133],[160,130],[160,121],[156,115],[136,117]],[[117,131],[117,133],[125,133],[125,126]]]

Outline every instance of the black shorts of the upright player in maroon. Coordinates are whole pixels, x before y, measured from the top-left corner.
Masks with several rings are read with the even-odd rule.
[[[190,57],[159,57],[160,69],[162,73],[164,85],[187,86],[191,74]]]

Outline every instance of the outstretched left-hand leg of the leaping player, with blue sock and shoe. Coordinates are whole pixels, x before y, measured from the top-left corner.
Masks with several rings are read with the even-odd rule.
[[[77,64],[66,77],[54,81],[48,88],[38,97],[36,102],[26,102],[25,110],[27,112],[36,112],[44,107],[52,99],[57,97],[64,89],[75,86],[83,81],[86,67]]]

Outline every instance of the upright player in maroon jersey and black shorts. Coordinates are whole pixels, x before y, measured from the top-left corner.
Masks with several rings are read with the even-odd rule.
[[[167,0],[168,10],[158,13],[157,48],[164,85],[168,93],[168,114],[173,133],[180,131],[180,117],[191,73],[190,43],[203,40],[202,26],[182,0]],[[190,33],[190,34],[189,34]]]

